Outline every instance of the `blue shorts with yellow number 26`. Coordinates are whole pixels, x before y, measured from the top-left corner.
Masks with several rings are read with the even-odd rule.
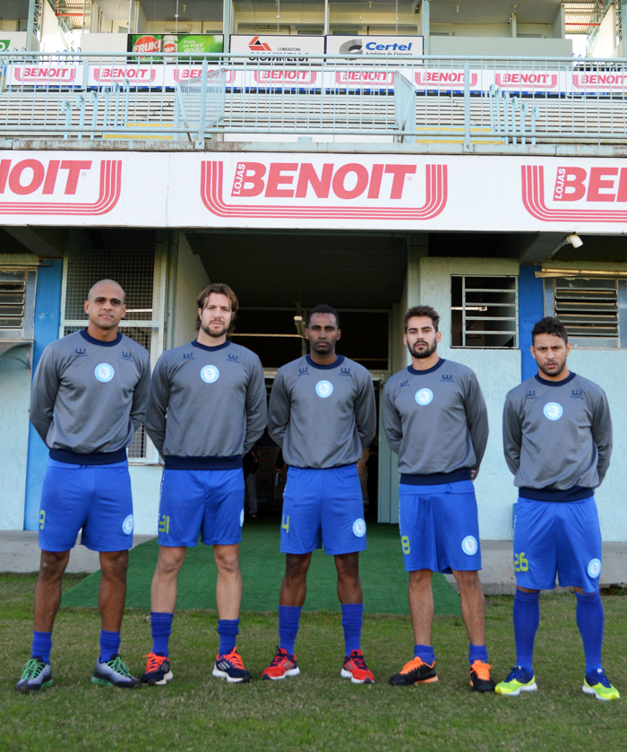
[[[514,571],[520,587],[552,590],[557,573],[562,587],[595,592],[601,558],[601,530],[594,497],[569,502],[519,497],[514,523]]]

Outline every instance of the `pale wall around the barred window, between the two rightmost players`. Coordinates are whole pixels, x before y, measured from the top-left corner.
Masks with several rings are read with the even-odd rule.
[[[505,394],[520,384],[520,350],[451,350],[451,274],[518,273],[518,262],[507,259],[420,259],[420,304],[433,306],[441,315],[442,342],[438,352],[442,358],[456,360],[477,373],[487,403],[490,438],[476,483],[479,531],[487,540],[512,536],[511,505],[517,493],[502,454],[501,423]]]

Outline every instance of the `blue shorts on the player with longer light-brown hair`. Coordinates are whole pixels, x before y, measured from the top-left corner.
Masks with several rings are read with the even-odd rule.
[[[242,540],[244,472],[164,470],[159,499],[159,546],[193,548]]]

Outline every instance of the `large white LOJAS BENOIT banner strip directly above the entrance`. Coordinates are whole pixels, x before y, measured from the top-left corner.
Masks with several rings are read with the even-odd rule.
[[[58,227],[622,234],[627,159],[2,151],[0,219]]]

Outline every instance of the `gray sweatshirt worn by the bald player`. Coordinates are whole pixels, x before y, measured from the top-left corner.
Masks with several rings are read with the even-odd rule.
[[[32,380],[30,422],[59,462],[123,462],[142,425],[150,356],[118,333],[93,339],[83,329],[51,342]]]

